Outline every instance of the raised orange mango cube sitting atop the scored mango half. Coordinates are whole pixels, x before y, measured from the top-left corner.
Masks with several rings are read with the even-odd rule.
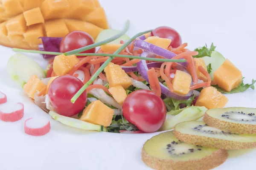
[[[26,20],[26,26],[31,26],[38,23],[44,23],[44,17],[41,13],[40,8],[33,8],[23,12]]]

